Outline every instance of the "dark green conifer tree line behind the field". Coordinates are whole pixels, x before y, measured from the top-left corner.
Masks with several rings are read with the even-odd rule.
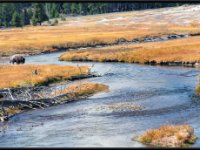
[[[69,15],[93,15],[162,7],[185,3],[161,2],[60,2],[60,3],[0,3],[0,27],[41,25],[51,18]]]

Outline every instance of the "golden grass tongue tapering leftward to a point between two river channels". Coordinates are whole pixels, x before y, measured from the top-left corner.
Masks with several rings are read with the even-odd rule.
[[[147,63],[198,62],[200,61],[200,37],[165,42],[116,45],[104,48],[70,51],[60,56],[61,61],[92,60]]]

